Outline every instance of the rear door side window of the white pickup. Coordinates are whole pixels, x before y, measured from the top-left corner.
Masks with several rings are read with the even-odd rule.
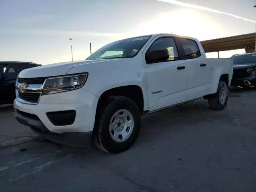
[[[200,50],[195,41],[183,38],[180,38],[180,41],[184,49],[186,58],[197,58],[201,56]]]

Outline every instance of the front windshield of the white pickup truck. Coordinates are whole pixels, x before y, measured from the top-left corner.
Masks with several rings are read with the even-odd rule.
[[[112,42],[100,48],[86,60],[134,57],[151,37],[141,36]]]

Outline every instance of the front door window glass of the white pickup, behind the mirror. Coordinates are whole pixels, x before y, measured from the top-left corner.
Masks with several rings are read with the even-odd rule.
[[[178,51],[172,37],[162,37],[157,39],[149,48],[150,52],[157,50],[167,50],[169,58],[167,61],[176,60],[179,58]]]

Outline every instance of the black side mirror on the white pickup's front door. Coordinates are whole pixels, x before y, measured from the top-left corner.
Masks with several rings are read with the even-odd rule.
[[[169,53],[167,50],[156,50],[148,51],[146,53],[146,63],[162,62],[169,58]]]

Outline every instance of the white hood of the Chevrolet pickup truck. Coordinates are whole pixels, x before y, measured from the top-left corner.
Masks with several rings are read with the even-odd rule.
[[[98,62],[107,62],[111,60],[117,60],[117,59],[82,60],[82,61],[74,61],[74,62],[48,64],[48,65],[43,65],[43,66],[22,70],[19,74],[19,77],[35,78],[35,77],[50,77],[50,76],[66,75],[67,72],[75,66],[78,66],[78,65],[90,66],[90,64],[94,64]]]

